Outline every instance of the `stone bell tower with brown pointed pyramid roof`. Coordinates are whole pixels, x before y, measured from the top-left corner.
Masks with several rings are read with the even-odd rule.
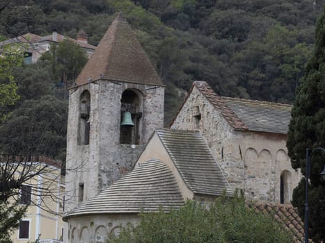
[[[164,85],[119,14],[70,88],[66,209],[132,169],[163,121]]]

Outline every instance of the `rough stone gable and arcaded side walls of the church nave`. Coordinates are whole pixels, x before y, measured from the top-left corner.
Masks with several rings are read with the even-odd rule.
[[[235,131],[196,87],[171,128],[199,130],[232,187],[244,189],[247,199],[280,202],[283,176],[284,202],[290,203],[300,169],[292,169],[286,135]]]

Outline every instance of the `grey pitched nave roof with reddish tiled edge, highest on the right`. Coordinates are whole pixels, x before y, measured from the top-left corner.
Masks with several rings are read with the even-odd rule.
[[[287,134],[292,106],[282,103],[219,97],[204,81],[193,84],[235,129]]]

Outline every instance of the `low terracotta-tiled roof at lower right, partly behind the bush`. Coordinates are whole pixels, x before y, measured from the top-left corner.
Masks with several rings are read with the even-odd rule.
[[[253,206],[256,212],[274,215],[280,224],[283,224],[288,231],[293,233],[295,242],[304,242],[303,221],[294,206],[266,202],[257,202]]]

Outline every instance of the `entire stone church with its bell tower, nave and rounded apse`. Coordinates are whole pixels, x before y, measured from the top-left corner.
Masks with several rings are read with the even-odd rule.
[[[69,94],[65,242],[106,242],[139,212],[235,188],[284,205],[300,181],[285,147],[291,106],[219,97],[196,81],[163,128],[164,85],[121,14]]]

